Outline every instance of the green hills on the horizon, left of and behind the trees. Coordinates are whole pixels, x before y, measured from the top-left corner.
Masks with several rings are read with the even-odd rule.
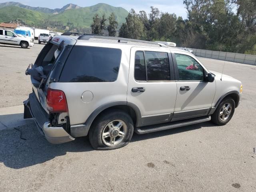
[[[102,16],[102,14],[106,14],[106,17],[108,17],[112,12],[114,12],[114,14],[116,15],[116,20],[119,24],[125,22],[125,18],[128,15],[128,11],[126,11],[124,8],[114,7],[104,3],[84,8],[68,4],[69,6],[67,6],[70,9],[65,10],[67,6],[64,6],[62,8],[62,12],[59,12],[58,14],[39,12],[27,8],[21,8],[17,5],[20,4],[16,4],[15,6],[3,6],[2,4],[2,8],[0,8],[0,22],[11,22],[19,20],[26,25],[32,26],[45,27],[47,25],[73,25],[75,27],[79,26],[89,28],[92,24],[92,18],[94,14],[98,14],[99,16]],[[41,8],[41,10],[42,9],[44,8]]]

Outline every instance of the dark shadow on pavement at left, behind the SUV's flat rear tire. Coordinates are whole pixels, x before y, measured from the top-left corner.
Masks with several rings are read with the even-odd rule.
[[[34,122],[17,129],[0,131],[0,163],[3,162],[9,168],[20,169],[41,164],[67,152],[93,150],[89,140],[84,137],[64,144],[50,144],[38,132]]]

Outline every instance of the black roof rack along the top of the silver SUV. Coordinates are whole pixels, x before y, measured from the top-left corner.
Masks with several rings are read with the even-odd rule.
[[[70,35],[79,36],[77,38],[78,40],[90,40],[92,38],[97,38],[97,39],[117,40],[118,43],[128,43],[130,41],[130,42],[154,44],[154,45],[158,45],[158,46],[161,46],[161,47],[167,47],[162,42],[144,41],[144,40],[136,40],[136,39],[112,37],[112,36],[102,36],[102,35],[95,35],[95,34],[81,34],[81,33],[66,32],[66,33],[63,33],[62,35],[66,35],[66,36],[70,36]]]

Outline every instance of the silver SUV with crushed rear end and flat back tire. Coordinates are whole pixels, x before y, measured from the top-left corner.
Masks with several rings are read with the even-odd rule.
[[[53,144],[89,136],[95,149],[126,146],[145,134],[212,120],[224,125],[240,103],[240,81],[208,71],[187,51],[125,38],[65,33],[29,66],[34,118]]]

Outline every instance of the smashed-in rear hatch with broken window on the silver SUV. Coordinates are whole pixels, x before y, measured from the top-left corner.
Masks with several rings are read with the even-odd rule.
[[[26,70],[26,75],[30,75],[33,92],[47,113],[49,113],[46,108],[48,85],[58,82],[64,63],[75,43],[74,38],[54,37],[44,46],[34,65],[31,64]]]

